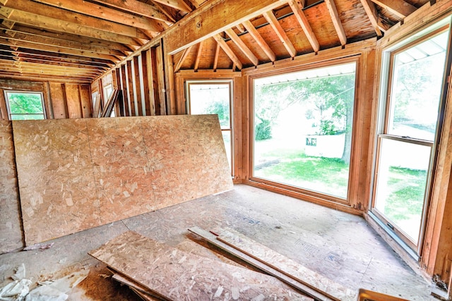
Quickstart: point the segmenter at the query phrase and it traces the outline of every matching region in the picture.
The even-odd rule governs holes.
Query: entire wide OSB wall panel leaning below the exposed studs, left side
[[[218,117],[13,121],[26,245],[232,189]]]

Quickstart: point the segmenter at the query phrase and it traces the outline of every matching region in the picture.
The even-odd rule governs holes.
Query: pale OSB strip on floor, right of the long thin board
[[[223,231],[217,239],[258,259],[264,264],[268,264],[268,266],[273,267],[273,269],[277,269],[281,273],[309,285],[309,287],[331,297],[333,300],[354,301],[357,298],[357,292],[354,290],[331,281],[331,279],[308,269],[306,266],[302,266],[302,264],[285,257],[283,254],[279,254],[269,247],[266,247],[255,240],[251,240],[251,238],[246,237],[242,233],[227,229],[226,231]]]

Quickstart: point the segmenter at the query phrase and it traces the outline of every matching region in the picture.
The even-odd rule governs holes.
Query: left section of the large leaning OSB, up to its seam
[[[27,245],[100,225],[83,119],[13,121]]]

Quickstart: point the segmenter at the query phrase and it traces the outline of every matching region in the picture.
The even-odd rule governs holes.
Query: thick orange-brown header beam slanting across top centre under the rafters
[[[285,3],[287,1],[282,0],[213,0],[186,16],[177,25],[169,27],[165,38],[166,50],[168,54],[176,54]]]

